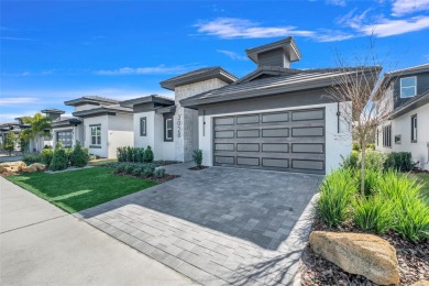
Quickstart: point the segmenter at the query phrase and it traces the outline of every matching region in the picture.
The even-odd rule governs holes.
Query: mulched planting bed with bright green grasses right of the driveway
[[[429,176],[425,173],[406,173],[413,166],[404,164],[408,162],[404,158],[409,156],[394,156],[403,163],[392,164],[385,155],[367,152],[364,186],[361,186],[361,158],[353,158],[353,155],[345,158],[342,167],[329,174],[320,185],[312,231],[331,233],[331,238],[336,237],[332,233],[343,232],[340,237],[348,237],[351,244],[362,243],[361,238],[369,237],[354,235],[360,239],[353,241],[353,234],[346,233],[366,233],[384,239],[383,243],[393,246],[389,245],[393,255],[396,250],[398,262],[396,265],[396,258],[392,257],[396,266],[392,264],[386,271],[395,273],[392,277],[398,282],[400,279],[400,285],[411,285],[420,279],[429,279]],[[320,232],[314,233],[318,235]],[[375,242],[370,242],[371,239],[367,241],[365,255],[382,255]],[[372,260],[362,265],[345,263],[344,258],[351,254],[348,251],[353,248],[351,244],[336,249],[330,241],[323,245],[333,249],[327,246],[323,252],[318,243],[312,241],[304,251],[300,266],[302,285],[376,285],[367,278],[372,274],[365,271],[373,268]],[[328,249],[330,252],[327,252]],[[331,255],[332,251],[334,255]],[[330,261],[350,273],[366,277],[350,274]],[[373,276],[373,279],[376,278]]]

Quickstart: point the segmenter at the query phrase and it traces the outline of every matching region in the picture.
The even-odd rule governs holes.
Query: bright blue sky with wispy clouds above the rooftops
[[[369,35],[386,69],[429,62],[429,0],[1,1],[0,122],[81,96],[173,96],[160,81],[206,66],[241,77],[244,50],[295,37],[295,68],[353,64]]]

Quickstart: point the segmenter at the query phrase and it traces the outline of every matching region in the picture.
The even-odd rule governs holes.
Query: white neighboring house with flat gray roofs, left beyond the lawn
[[[74,118],[53,128],[59,139],[79,141],[90,154],[117,157],[117,147],[133,145],[133,111],[103,97],[81,97],[64,102],[75,107]]]

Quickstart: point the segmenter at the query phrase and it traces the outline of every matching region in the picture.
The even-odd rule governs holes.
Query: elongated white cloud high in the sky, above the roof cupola
[[[260,38],[278,36],[314,36],[315,32],[297,30],[296,26],[261,26],[260,23],[245,19],[218,18],[199,22],[195,26],[199,33],[221,38]]]

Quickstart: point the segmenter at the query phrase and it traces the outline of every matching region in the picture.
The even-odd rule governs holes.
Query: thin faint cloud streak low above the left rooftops
[[[196,66],[154,66],[154,67],[121,67],[112,70],[96,70],[94,74],[100,76],[117,76],[117,75],[176,75],[187,73]]]

